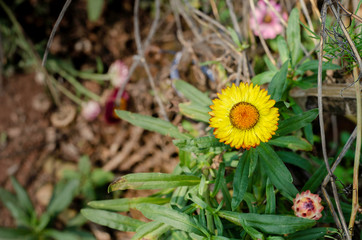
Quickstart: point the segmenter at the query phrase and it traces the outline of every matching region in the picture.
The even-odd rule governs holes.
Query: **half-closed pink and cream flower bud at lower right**
[[[318,220],[322,217],[323,206],[320,204],[321,198],[309,190],[297,194],[293,199],[294,214],[297,217]]]

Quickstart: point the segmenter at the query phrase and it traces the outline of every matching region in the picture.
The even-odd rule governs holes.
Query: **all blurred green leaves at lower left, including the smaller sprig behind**
[[[93,240],[88,231],[81,230],[86,219],[81,214],[64,223],[64,228],[55,227],[57,216],[65,211],[76,196],[83,197],[84,201],[93,200],[96,188],[104,186],[114,178],[112,173],[101,169],[91,171],[88,157],[80,159],[78,171],[67,171],[64,179],[54,187],[51,200],[41,216],[37,216],[36,210],[28,193],[11,177],[15,195],[0,188],[0,201],[10,210],[16,221],[16,228],[0,228],[0,239],[69,239],[69,240]]]

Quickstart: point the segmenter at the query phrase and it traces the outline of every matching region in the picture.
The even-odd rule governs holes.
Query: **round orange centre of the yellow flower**
[[[239,102],[231,108],[229,118],[234,127],[248,130],[258,122],[259,111],[250,103]]]

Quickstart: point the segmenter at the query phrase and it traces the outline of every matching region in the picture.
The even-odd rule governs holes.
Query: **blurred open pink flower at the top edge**
[[[270,1],[270,4],[275,8],[276,11],[281,13],[281,6],[274,0]],[[288,16],[283,12],[282,17],[284,20],[288,19]],[[256,22],[255,22],[256,19]],[[255,8],[255,16],[250,16],[250,27],[256,36],[260,34],[264,39],[274,39],[278,34],[283,32],[282,23],[279,21],[278,16],[268,8],[263,0],[259,0],[258,5]]]

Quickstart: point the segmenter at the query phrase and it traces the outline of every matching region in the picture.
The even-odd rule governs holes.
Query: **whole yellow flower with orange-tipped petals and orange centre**
[[[278,129],[278,108],[267,91],[241,83],[223,89],[209,112],[215,137],[231,147],[256,147],[267,142]]]

